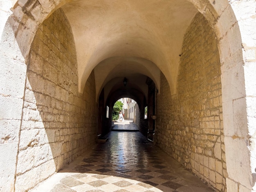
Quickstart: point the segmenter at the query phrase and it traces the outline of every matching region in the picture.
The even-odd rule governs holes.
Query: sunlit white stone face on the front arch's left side
[[[0,10],[1,12],[2,10]],[[1,17],[1,15],[0,15]],[[4,17],[1,17],[4,19]],[[7,22],[0,41],[0,191],[14,190],[24,85],[25,59]]]

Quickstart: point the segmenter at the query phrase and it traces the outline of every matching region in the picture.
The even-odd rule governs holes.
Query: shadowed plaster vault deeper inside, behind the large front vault
[[[157,83],[160,80],[160,72],[158,67],[144,58],[134,57],[112,57],[103,60],[99,65],[94,68],[96,95],[105,87],[105,98],[114,87],[124,87],[124,77],[127,78],[128,85],[137,85],[140,87],[141,92],[147,95],[146,76]],[[139,75],[140,74],[140,75]]]

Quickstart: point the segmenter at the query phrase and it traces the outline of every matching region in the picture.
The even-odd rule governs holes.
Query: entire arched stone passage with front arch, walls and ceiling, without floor
[[[90,149],[105,107],[126,95],[140,109],[150,104],[156,120],[146,128],[155,122],[154,142],[184,167],[218,191],[252,190],[254,8],[6,0],[0,151],[10,153],[0,160],[1,190],[34,188]]]

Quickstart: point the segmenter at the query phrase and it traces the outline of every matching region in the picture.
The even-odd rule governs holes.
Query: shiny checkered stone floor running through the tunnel
[[[33,191],[213,192],[140,132],[108,137]]]

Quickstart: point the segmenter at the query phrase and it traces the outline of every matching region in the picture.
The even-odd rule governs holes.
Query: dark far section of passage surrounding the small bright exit
[[[131,71],[129,71],[129,73]],[[124,80],[126,81],[125,83]],[[104,135],[111,130],[112,109],[115,102],[122,97],[136,100],[138,106],[136,118],[138,128],[145,136],[148,135],[148,132],[152,132],[151,134],[153,134],[155,124],[152,118],[144,118],[144,111],[145,107],[147,107],[149,116],[155,115],[156,91],[153,80],[142,74],[130,75],[127,76],[127,78],[113,78],[110,80],[102,89],[99,97],[98,134]],[[106,115],[107,107],[109,107],[109,117]]]

